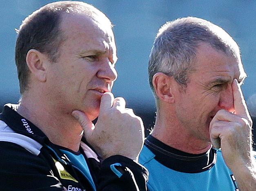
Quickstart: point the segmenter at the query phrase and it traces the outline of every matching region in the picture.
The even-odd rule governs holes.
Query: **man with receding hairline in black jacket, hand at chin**
[[[0,114],[0,190],[146,190],[142,120],[111,93],[117,56],[106,15],[54,2],[17,32],[22,98]]]

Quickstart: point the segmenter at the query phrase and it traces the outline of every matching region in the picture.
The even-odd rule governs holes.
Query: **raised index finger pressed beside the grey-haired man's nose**
[[[236,79],[234,79],[232,83],[232,89],[233,89],[234,107],[235,107],[236,115],[247,117],[248,109],[245,104],[245,99],[243,97],[241,87]]]

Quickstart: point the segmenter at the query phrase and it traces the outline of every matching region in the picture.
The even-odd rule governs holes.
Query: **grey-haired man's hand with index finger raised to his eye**
[[[236,79],[232,83],[235,112],[219,110],[210,123],[210,139],[214,148],[221,148],[229,168],[247,163],[252,149],[252,119]]]

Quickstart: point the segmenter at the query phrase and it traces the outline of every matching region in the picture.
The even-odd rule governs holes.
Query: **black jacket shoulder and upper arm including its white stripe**
[[[37,141],[0,124],[0,190],[61,189],[41,148]]]

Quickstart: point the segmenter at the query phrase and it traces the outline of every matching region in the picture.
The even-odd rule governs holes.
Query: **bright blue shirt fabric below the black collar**
[[[183,173],[169,169],[154,159],[146,146],[140,153],[139,162],[149,170],[149,191],[236,191],[232,171],[217,150],[216,164],[199,173]]]

